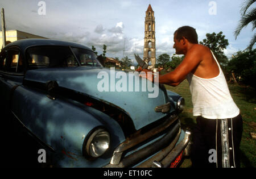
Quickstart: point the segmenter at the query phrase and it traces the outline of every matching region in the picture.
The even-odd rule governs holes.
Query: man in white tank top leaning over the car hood
[[[208,47],[198,44],[192,27],[183,26],[175,31],[174,48],[177,55],[183,54],[185,58],[174,71],[159,76],[158,80],[171,86],[179,85],[185,78],[189,82],[193,115],[197,116],[192,166],[240,167],[242,118],[220,65]]]

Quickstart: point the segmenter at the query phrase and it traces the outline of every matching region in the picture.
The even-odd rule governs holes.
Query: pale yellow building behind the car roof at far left
[[[6,35],[6,44],[16,40],[20,40],[20,39],[47,39],[42,36],[30,34],[27,32],[22,32],[18,30],[5,31],[5,35]],[[0,31],[0,49],[2,49],[2,47],[3,47],[2,31]]]

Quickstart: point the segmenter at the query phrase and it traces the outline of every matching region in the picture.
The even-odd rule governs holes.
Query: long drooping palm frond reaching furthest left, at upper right
[[[237,36],[240,34],[243,27],[246,27],[250,22],[253,23],[253,29],[255,28],[255,20],[256,20],[256,8],[247,11],[246,14],[243,14],[240,21],[238,22],[238,26],[236,31],[234,31],[234,36],[237,39]]]

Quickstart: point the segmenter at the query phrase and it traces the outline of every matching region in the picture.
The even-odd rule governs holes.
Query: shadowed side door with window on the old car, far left
[[[10,112],[15,88],[22,84],[23,60],[18,47],[3,49],[0,54],[0,107],[1,114]]]

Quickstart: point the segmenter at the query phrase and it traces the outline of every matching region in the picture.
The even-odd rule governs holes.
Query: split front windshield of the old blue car
[[[74,47],[69,48],[57,45],[34,46],[27,49],[26,57],[30,69],[78,66],[77,60],[83,66],[101,66],[96,59],[95,53]]]

